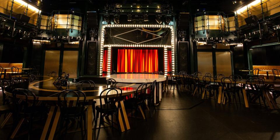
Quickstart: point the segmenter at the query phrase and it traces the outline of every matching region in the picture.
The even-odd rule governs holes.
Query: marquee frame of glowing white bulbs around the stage
[[[105,28],[106,27],[158,27],[158,28],[170,28],[171,31],[171,46],[170,45],[139,45],[139,44],[131,44],[131,45],[119,45],[119,44],[108,44],[104,45],[104,36],[105,36]],[[100,66],[99,66],[99,75],[103,74],[103,50],[104,47],[108,47],[108,55],[107,55],[107,75],[111,74],[111,47],[162,47],[164,48],[164,75],[167,75],[167,66],[168,66],[168,58],[167,58],[167,48],[171,48],[171,67],[172,71],[175,71],[175,56],[174,56],[174,30],[172,25],[140,25],[140,24],[106,24],[102,25],[101,31],[101,43],[100,43]]]

